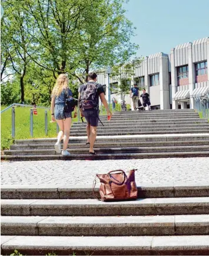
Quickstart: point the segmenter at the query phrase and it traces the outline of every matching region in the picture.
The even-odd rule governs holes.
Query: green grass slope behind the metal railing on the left
[[[1,107],[3,110],[5,107]],[[44,109],[37,109],[38,115],[34,115],[34,137],[57,137],[57,124],[51,123],[51,112],[48,112],[48,135],[45,135]],[[77,122],[78,118],[73,118]],[[15,107],[15,140],[32,138],[29,132],[30,108]],[[8,149],[14,143],[12,138],[12,109],[1,114],[1,150]]]

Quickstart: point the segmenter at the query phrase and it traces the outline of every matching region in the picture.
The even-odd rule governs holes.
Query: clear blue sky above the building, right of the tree
[[[137,56],[170,53],[181,43],[209,37],[209,0],[130,0],[127,18],[137,27]]]

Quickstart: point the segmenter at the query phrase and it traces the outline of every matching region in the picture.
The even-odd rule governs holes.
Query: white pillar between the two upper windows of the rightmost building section
[[[192,96],[193,90],[194,90],[194,64],[193,64],[193,44],[189,43],[188,44],[188,82],[189,86],[188,88],[190,89],[190,108],[194,108],[194,98]]]

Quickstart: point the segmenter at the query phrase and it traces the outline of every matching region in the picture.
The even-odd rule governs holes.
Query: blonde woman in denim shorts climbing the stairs
[[[71,129],[72,112],[64,112],[65,99],[72,97],[72,91],[69,89],[69,79],[67,74],[59,74],[57,82],[52,90],[51,96],[51,116],[52,122],[56,121],[59,125],[59,133],[57,142],[55,143],[55,151],[61,153],[61,140],[63,138],[62,155],[69,156],[68,141],[69,131]],[[74,117],[77,116],[77,109],[74,111]]]

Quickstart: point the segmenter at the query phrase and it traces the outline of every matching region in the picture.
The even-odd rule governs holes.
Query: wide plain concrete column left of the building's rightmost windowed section
[[[160,109],[170,109],[168,85],[168,56],[160,55]]]

